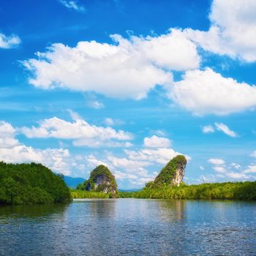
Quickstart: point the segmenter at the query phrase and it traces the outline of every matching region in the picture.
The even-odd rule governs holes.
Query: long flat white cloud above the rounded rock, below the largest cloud
[[[75,116],[77,117],[77,116]],[[69,122],[60,118],[48,118],[39,123],[39,127],[22,127],[19,132],[27,138],[58,138],[73,140],[75,146],[132,146],[126,140],[132,140],[129,132],[111,127],[97,127],[83,119],[76,118]]]

